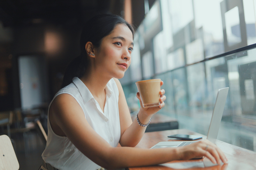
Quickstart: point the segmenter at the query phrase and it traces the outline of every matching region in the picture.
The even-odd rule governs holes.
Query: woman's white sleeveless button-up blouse
[[[109,142],[112,147],[117,147],[121,131],[118,111],[119,92],[114,79],[111,79],[106,85],[104,113],[89,89],[77,77],[73,78],[71,84],[59,90],[53,100],[60,94],[73,96],[82,107],[86,120],[95,132]],[[68,137],[58,136],[53,132],[49,122],[49,109],[47,126],[47,144],[42,154],[46,163],[59,170],[96,170],[100,168],[99,165],[82,154]]]

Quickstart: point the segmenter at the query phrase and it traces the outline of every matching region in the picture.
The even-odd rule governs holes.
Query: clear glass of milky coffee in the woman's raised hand
[[[151,79],[136,82],[143,107],[160,105],[161,79]]]

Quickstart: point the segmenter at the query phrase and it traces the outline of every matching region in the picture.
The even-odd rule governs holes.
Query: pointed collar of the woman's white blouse
[[[77,87],[77,89],[79,90],[85,104],[89,100],[94,99],[90,90],[86,87],[86,85],[78,77],[74,77],[72,81],[75,84],[75,86]],[[112,93],[113,93],[111,88],[109,87],[109,83],[110,82],[108,82],[108,84],[106,85],[106,101],[112,96]]]

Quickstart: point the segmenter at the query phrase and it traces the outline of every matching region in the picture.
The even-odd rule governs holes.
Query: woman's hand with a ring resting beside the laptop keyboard
[[[192,143],[188,146],[177,147],[177,154],[181,160],[188,160],[193,158],[207,157],[213,164],[227,163],[227,158],[224,153],[209,140],[201,140]]]

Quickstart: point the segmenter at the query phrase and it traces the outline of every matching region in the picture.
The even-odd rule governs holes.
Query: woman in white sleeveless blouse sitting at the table
[[[133,27],[116,15],[100,15],[87,22],[80,41],[82,53],[68,66],[63,88],[49,105],[42,169],[110,170],[202,156],[226,163],[222,151],[208,140],[180,148],[133,148],[145,132],[142,125],[166,99],[162,89],[160,105],[143,108],[137,93],[140,124],[132,122],[118,79],[131,63],[133,37]]]

